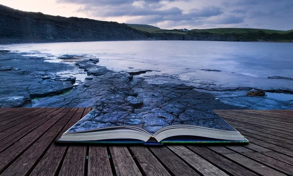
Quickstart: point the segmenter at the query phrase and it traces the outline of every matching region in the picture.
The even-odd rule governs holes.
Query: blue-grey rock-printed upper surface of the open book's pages
[[[177,118],[169,113],[162,112],[115,116],[113,114],[101,115],[101,112],[98,109],[94,109],[77,122],[72,128],[70,128],[67,133],[131,125],[142,127],[153,135],[160,128],[175,124],[188,124],[213,129],[235,131],[229,123],[217,115],[201,116],[198,113],[190,112],[189,116],[179,116],[179,118]]]

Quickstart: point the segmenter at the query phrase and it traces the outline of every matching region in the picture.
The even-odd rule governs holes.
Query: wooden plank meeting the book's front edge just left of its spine
[[[143,170],[144,176],[171,176],[145,146],[129,147]]]

